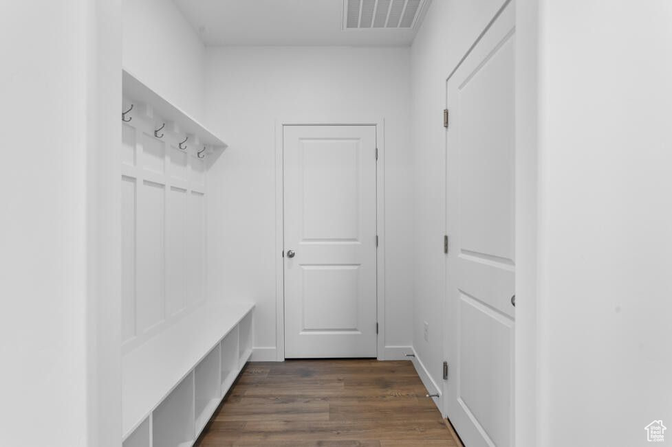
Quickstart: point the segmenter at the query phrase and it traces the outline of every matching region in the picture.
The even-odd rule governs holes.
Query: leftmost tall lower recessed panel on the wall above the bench
[[[121,260],[122,341],[125,342],[136,335],[136,179],[127,176],[121,180]]]

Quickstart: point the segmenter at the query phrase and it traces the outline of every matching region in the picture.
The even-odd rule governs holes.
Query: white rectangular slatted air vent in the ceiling
[[[343,28],[411,29],[426,0],[343,0]]]

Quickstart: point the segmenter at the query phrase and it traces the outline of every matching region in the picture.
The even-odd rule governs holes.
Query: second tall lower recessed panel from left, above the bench
[[[164,318],[165,186],[143,181],[138,207],[137,328],[142,333]]]

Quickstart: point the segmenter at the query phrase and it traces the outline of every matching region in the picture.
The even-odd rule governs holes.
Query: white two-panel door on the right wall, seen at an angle
[[[446,414],[464,444],[513,445],[514,5],[446,83]]]

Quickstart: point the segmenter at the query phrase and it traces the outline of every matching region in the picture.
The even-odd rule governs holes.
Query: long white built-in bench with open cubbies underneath
[[[124,447],[193,444],[249,359],[253,308],[208,301],[124,355]]]

